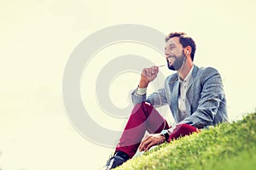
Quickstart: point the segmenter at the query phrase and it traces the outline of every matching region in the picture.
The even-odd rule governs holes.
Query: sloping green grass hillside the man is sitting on
[[[233,170],[256,167],[256,113],[150,150],[116,169]]]

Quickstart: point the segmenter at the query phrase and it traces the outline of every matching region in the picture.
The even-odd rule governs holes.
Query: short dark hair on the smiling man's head
[[[189,37],[184,32],[172,32],[168,36],[166,36],[166,42],[172,37],[179,37],[179,42],[182,44],[183,48],[186,48],[187,46],[190,46],[192,48],[191,59],[193,61],[195,56],[195,42],[192,37]]]

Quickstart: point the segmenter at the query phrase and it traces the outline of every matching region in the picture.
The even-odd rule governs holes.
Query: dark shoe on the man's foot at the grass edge
[[[115,167],[119,167],[125,161],[129,159],[129,156],[122,151],[117,151],[114,156],[112,156],[106,165],[106,170],[113,169]]]

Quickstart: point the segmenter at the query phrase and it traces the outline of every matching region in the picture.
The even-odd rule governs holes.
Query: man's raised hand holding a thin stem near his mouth
[[[154,78],[157,77],[158,66],[153,66],[150,68],[144,68],[141,74],[141,80],[139,82],[139,88],[147,88],[148,83],[154,81]]]

